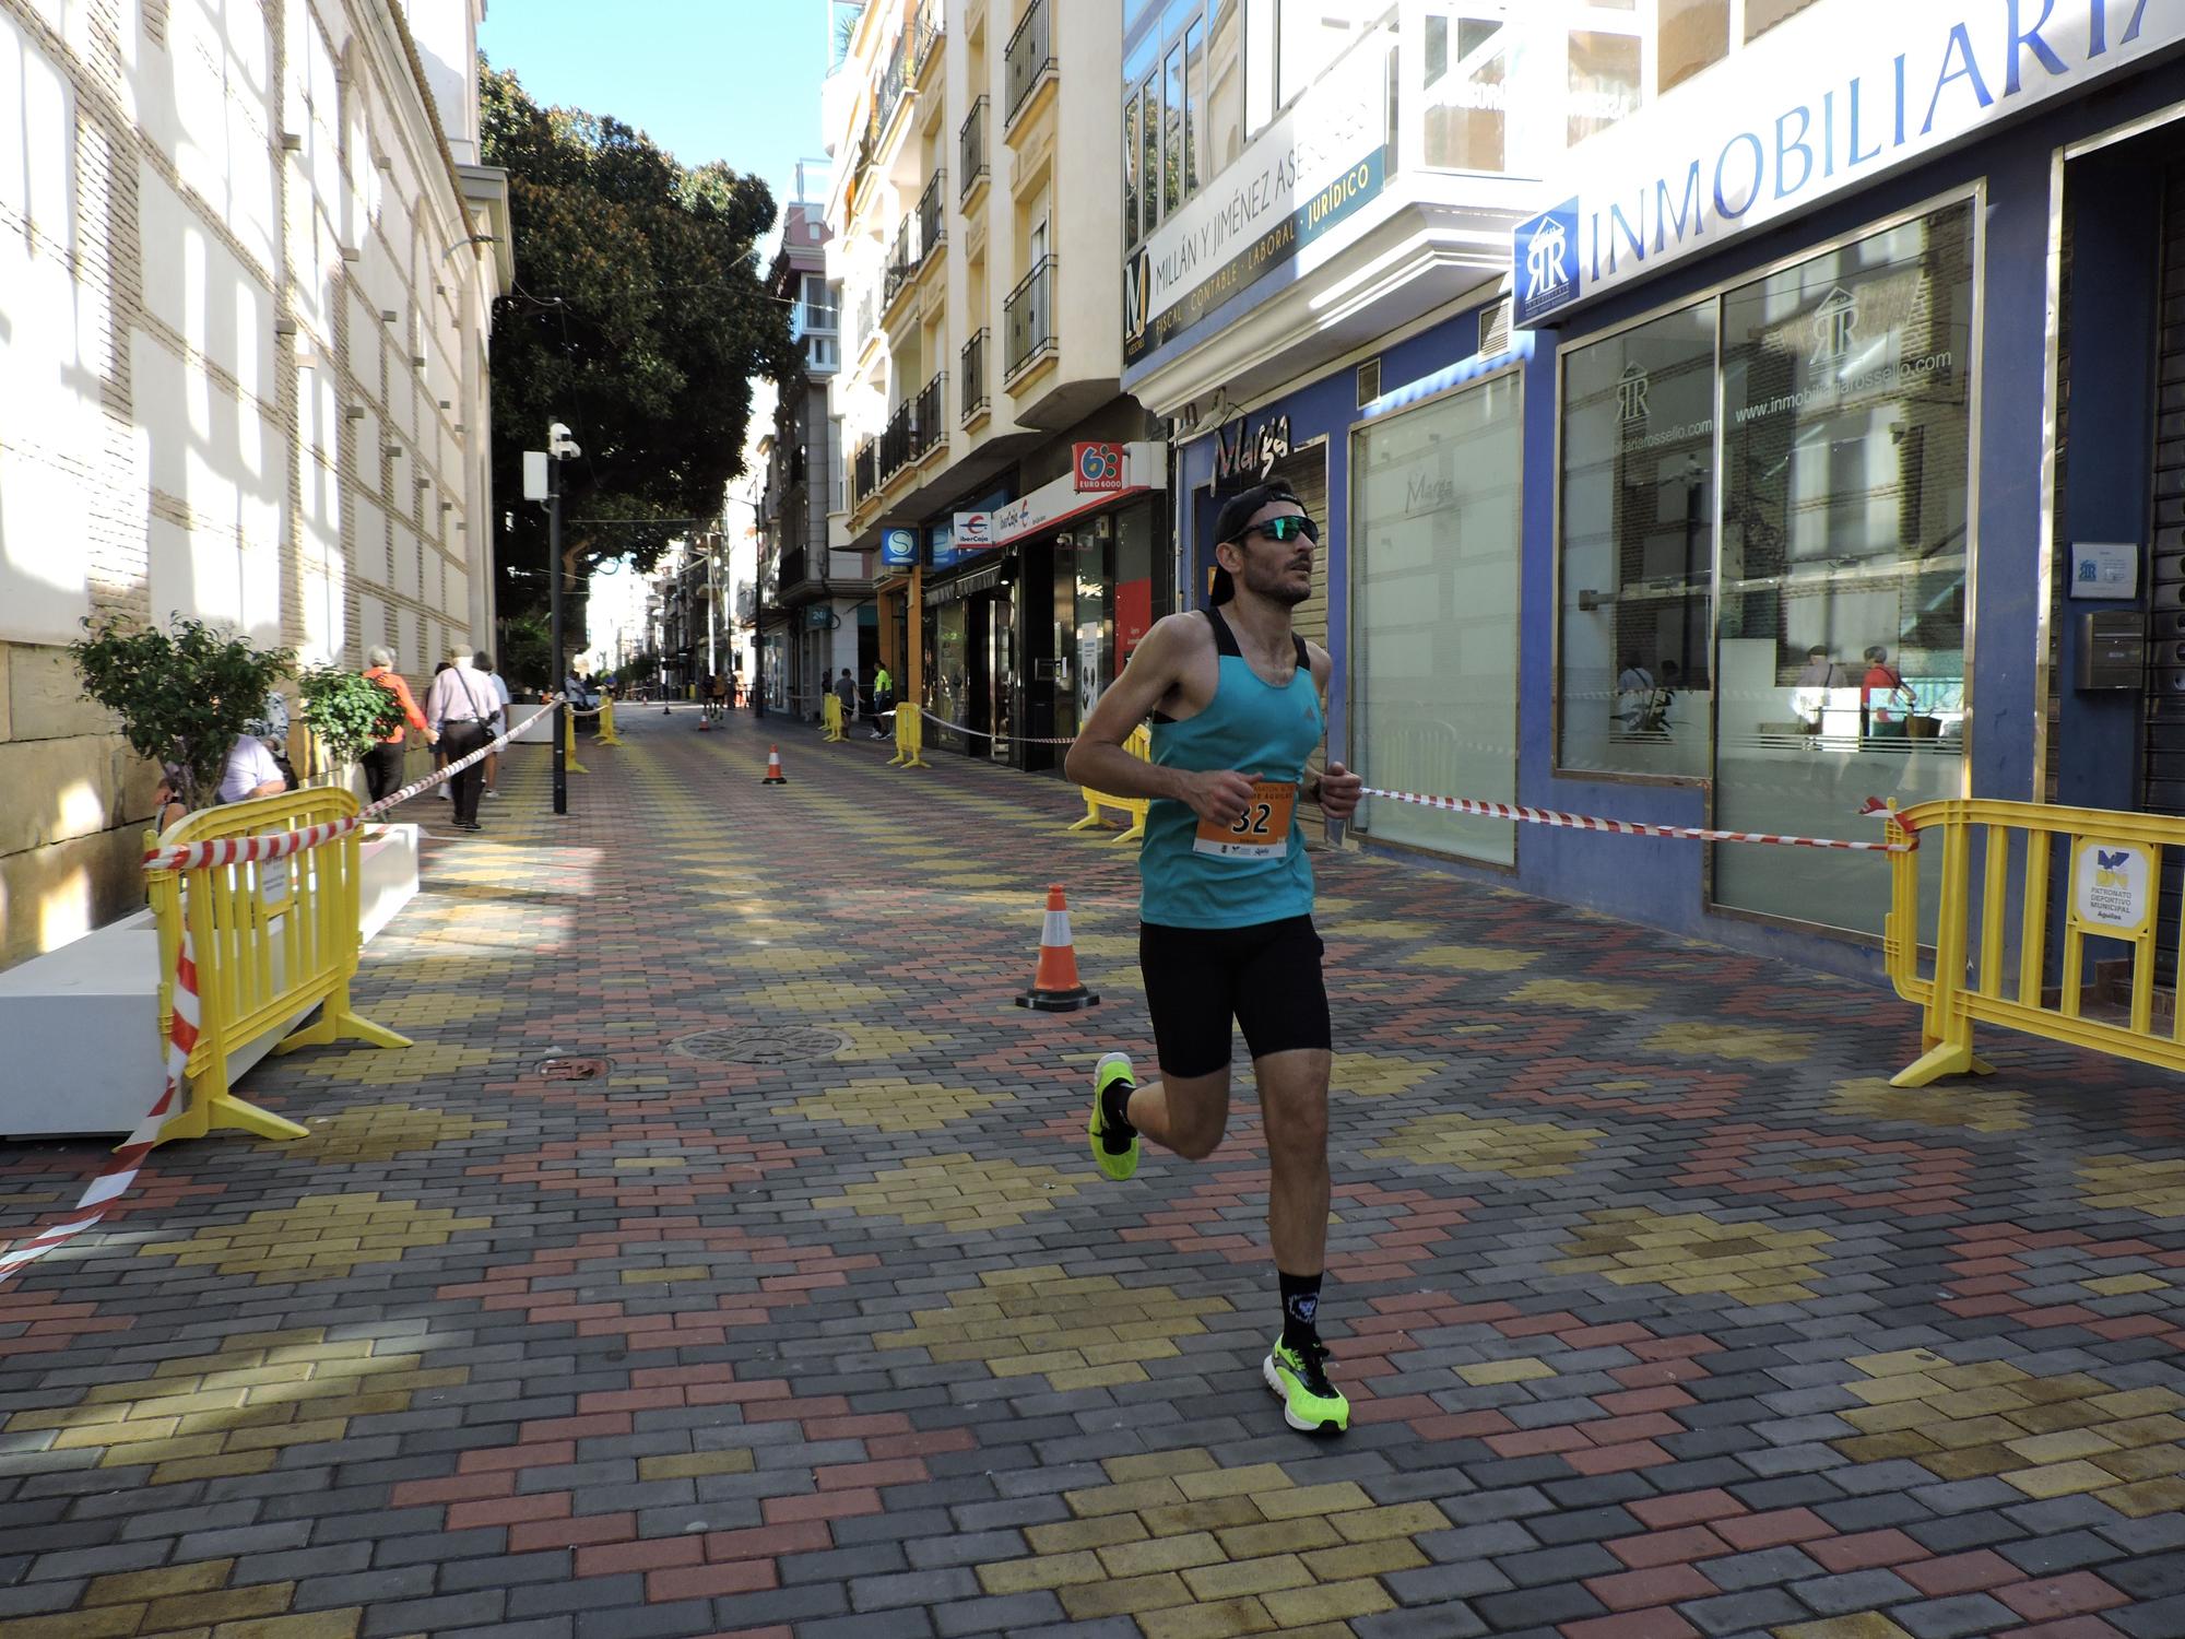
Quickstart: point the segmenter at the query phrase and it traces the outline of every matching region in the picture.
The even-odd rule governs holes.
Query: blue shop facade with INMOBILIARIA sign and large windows
[[[1818,0],[1571,146],[1499,278],[1191,406],[1186,599],[1224,483],[1309,494],[1331,754],[1370,787],[1853,839],[1873,800],[2185,813],[2178,46],[2122,0]],[[1274,269],[1165,356],[1370,258]],[[1875,854],[1381,798],[1353,835],[1879,972]]]

